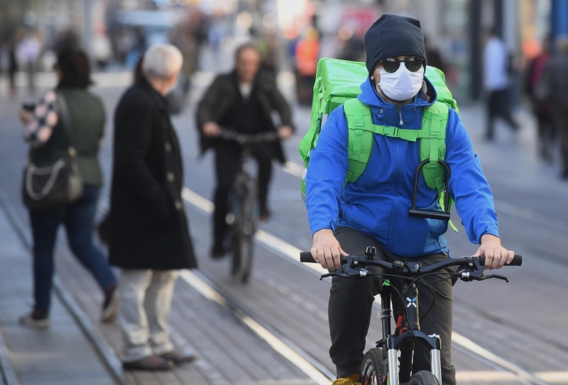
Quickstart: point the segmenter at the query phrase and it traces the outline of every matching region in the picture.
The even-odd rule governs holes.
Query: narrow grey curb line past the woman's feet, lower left
[[[16,220],[16,214],[10,211],[9,206],[6,204],[6,201],[8,201],[6,194],[4,193],[4,191],[0,190],[0,209],[4,211],[6,218],[8,219],[9,223],[12,225],[13,230],[18,235],[18,238],[20,238],[24,247],[26,247],[26,249],[31,252],[32,242],[29,239],[26,232],[21,227],[21,223],[18,223],[18,221]],[[71,313],[73,318],[75,318],[82,332],[89,339],[89,342],[92,343],[92,345],[95,348],[95,351],[97,352],[97,355],[99,355],[99,357],[102,358],[104,366],[106,366],[107,369],[109,369],[109,372],[111,373],[111,376],[113,377],[116,384],[132,385],[130,381],[124,379],[124,372],[122,370],[121,361],[116,357],[111,347],[109,347],[109,345],[104,340],[102,335],[100,335],[100,333],[97,331],[97,328],[95,328],[93,323],[89,320],[87,315],[82,311],[82,309],[77,304],[77,302],[75,302],[75,299],[72,298],[69,291],[65,289],[65,286],[61,283],[60,279],[55,274],[53,276],[53,289],[55,289],[55,293],[59,296],[60,300],[65,305],[67,310]],[[3,340],[1,340],[1,335],[0,335],[0,359],[2,357],[2,351],[1,351],[1,348],[3,346],[2,342]],[[0,361],[0,364],[2,364],[3,366],[4,362]],[[19,385],[19,382],[13,382],[13,383],[8,382],[7,385]]]

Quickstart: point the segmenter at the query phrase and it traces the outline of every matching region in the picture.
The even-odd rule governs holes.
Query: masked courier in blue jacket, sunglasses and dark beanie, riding
[[[374,124],[420,129],[423,110],[436,100],[435,89],[424,77],[423,42],[420,21],[413,18],[383,15],[367,30],[364,43],[369,77],[361,84],[359,101],[371,108]],[[410,63],[417,60],[422,65]],[[452,171],[449,191],[469,240],[479,244],[476,255],[486,256],[486,268],[500,268],[513,260],[513,252],[501,246],[491,189],[466,128],[453,109],[449,111],[445,142],[445,160]],[[341,106],[325,123],[307,169],[306,206],[314,259],[325,269],[336,269],[340,255],[364,255],[368,246],[376,247],[378,257],[389,262],[433,264],[447,259],[449,249],[443,234],[448,223],[408,215],[420,162],[419,141],[374,134],[364,173],[345,186],[347,143],[348,128]],[[439,208],[437,191],[427,188],[422,177],[417,203],[419,207]],[[442,383],[453,385],[452,282],[439,280],[424,278],[432,283],[435,296],[424,286],[419,289],[421,317],[433,305],[420,325],[425,333],[440,335]],[[336,385],[359,384],[373,298],[380,289],[381,281],[376,278],[332,279],[329,354],[337,369]],[[420,352],[415,354],[413,372],[429,369],[427,358]]]

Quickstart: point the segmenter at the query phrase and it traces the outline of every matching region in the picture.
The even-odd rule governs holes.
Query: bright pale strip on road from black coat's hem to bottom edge
[[[203,279],[197,276],[191,270],[182,270],[180,273],[180,277],[187,282],[190,286],[192,286],[195,290],[197,290],[202,296],[209,299],[210,301],[214,301],[221,306],[226,306],[227,301],[215,291],[209,284],[207,284]],[[316,369],[310,362],[307,362],[301,355],[297,354],[294,350],[292,350],[288,345],[275,337],[272,333],[268,330],[263,328],[262,325],[257,323],[255,320],[246,316],[246,314],[241,313],[240,311],[234,311],[235,315],[241,319],[241,321],[255,333],[258,337],[264,340],[268,345],[270,345],[276,352],[280,355],[288,359],[292,364],[295,365],[298,369],[304,372],[310,379],[315,381],[318,385],[329,385],[329,381],[334,381],[332,378],[328,378],[324,376],[320,370]]]

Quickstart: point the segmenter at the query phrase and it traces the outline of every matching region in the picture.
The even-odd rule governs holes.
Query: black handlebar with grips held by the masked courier
[[[430,265],[425,266],[425,267],[420,267],[419,271],[413,272],[413,271],[410,270],[410,268],[408,267],[407,264],[395,266],[391,262],[386,262],[386,261],[383,261],[383,260],[377,260],[377,259],[372,259],[372,258],[367,258],[367,257],[356,257],[356,256],[351,256],[351,255],[342,255],[341,263],[342,264],[347,263],[349,257],[352,258],[353,264],[356,264],[356,265],[359,265],[359,266],[382,267],[383,269],[385,269],[388,272],[398,274],[398,275],[404,275],[404,276],[424,275],[424,274],[437,272],[437,271],[442,270],[445,267],[449,267],[449,266],[467,265],[471,261],[470,258],[477,258],[479,260],[479,264],[481,265],[481,267],[483,267],[484,264],[485,264],[485,256],[484,255],[481,255],[480,257],[461,257],[461,258],[456,258],[456,259],[452,259],[452,260],[445,260],[445,261],[438,262],[438,263],[435,263],[435,264],[430,264]],[[312,257],[311,252],[300,252],[300,262],[317,263],[317,262],[315,262],[314,258]],[[513,260],[510,262],[510,264],[506,264],[505,266],[520,266],[522,263],[523,263],[523,257],[521,257],[520,255],[515,255],[515,257],[513,257]]]

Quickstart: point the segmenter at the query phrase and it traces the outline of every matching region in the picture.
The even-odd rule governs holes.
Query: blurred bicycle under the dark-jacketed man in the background
[[[253,260],[253,237],[258,224],[256,208],[256,177],[252,175],[251,145],[254,143],[272,142],[278,138],[277,133],[258,133],[244,135],[234,130],[223,130],[219,138],[230,140],[241,145],[240,170],[229,193],[229,213],[226,223],[229,230],[229,249],[233,255],[231,276],[246,283],[249,281]]]

